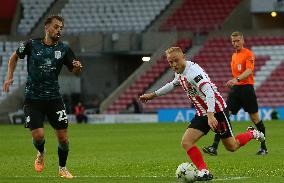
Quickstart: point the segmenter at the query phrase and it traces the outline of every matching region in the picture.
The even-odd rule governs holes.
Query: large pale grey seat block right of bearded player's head
[[[70,0],[62,9],[65,32],[143,31],[170,0]]]

